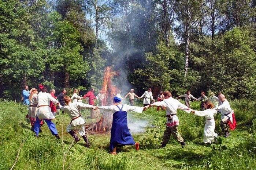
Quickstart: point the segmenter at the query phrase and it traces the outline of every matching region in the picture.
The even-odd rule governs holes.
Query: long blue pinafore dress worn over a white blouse
[[[119,108],[120,111],[117,111],[113,114],[110,137],[110,151],[112,151],[116,146],[135,144],[127,126],[127,112],[122,111],[122,108]]]

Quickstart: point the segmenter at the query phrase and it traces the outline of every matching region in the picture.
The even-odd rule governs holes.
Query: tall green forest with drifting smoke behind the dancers
[[[255,0],[1,0],[0,98],[42,83],[254,98]]]

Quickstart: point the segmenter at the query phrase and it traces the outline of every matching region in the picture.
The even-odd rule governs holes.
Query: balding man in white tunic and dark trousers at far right
[[[231,109],[229,102],[227,101],[226,97],[223,94],[220,94],[219,100],[222,102],[217,108],[218,111],[221,113],[220,128],[224,133],[224,137],[227,138],[229,136],[229,129],[227,127],[227,123],[229,121],[233,123],[233,110]]]

